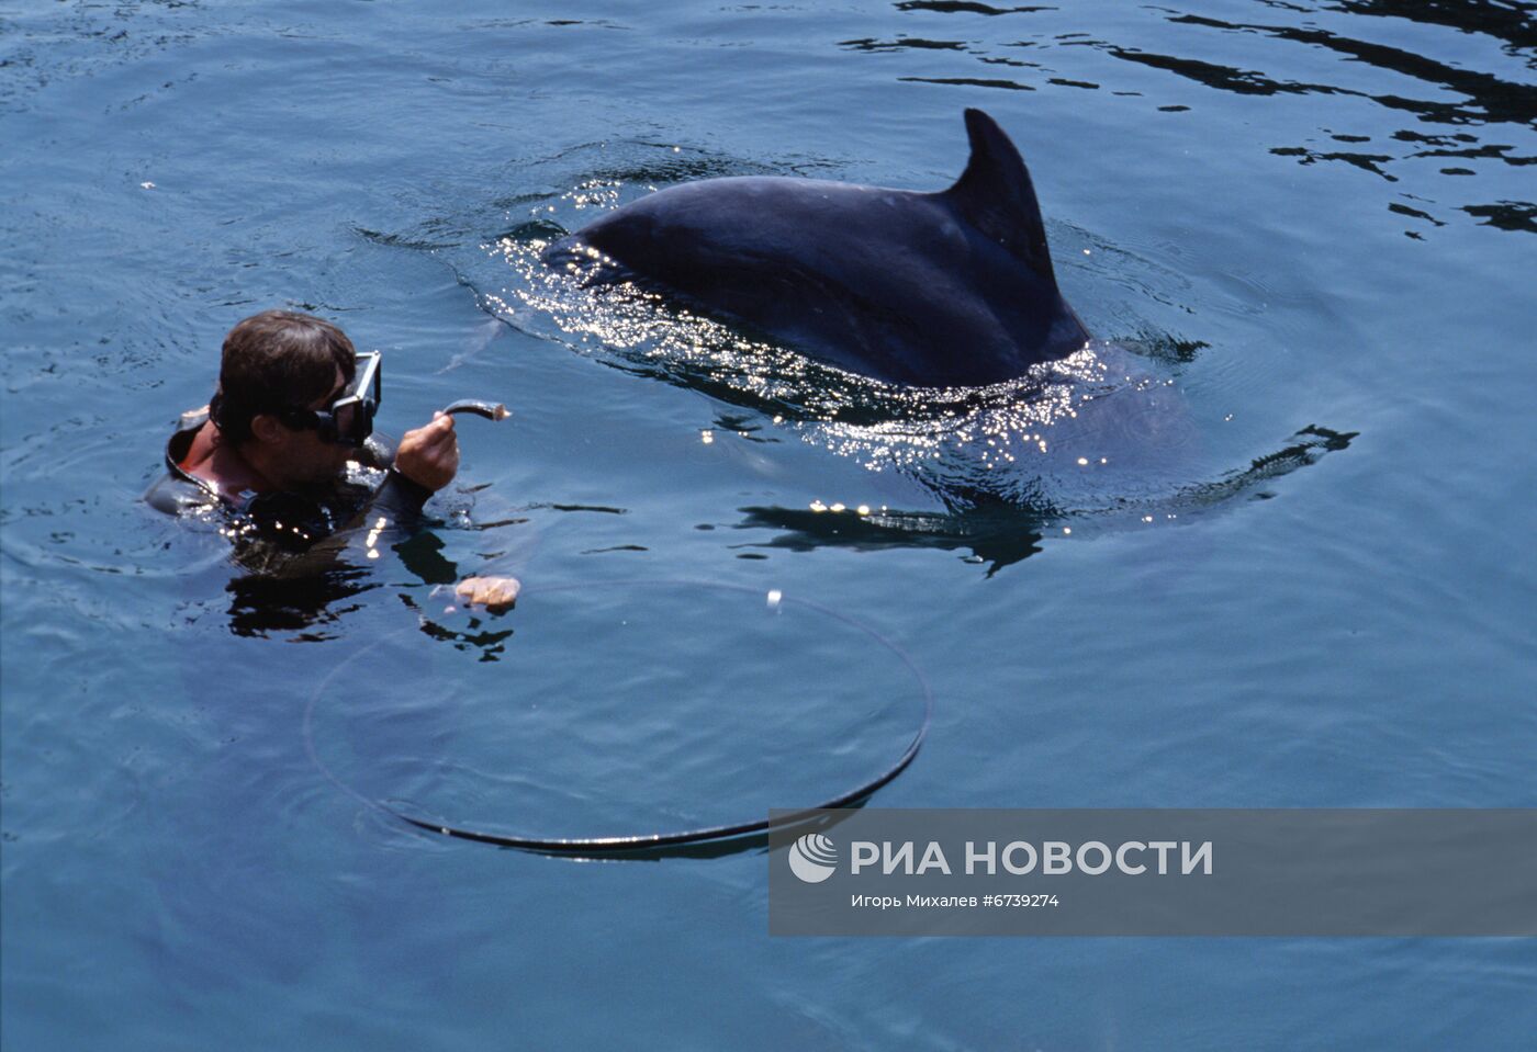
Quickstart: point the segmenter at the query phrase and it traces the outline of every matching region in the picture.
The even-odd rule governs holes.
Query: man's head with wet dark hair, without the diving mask
[[[275,482],[335,476],[347,448],[327,444],[298,421],[324,409],[352,381],[357,352],[329,321],[292,310],[264,310],[224,336],[218,393],[211,413],[220,439],[263,461]]]

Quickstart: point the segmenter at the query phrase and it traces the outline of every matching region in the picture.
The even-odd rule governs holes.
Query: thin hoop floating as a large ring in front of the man
[[[575,588],[586,590],[586,588],[612,588],[612,587],[627,587],[627,585],[629,587],[689,585],[695,588],[741,591],[752,596],[762,594],[755,588],[747,588],[745,585],[729,585],[729,584],[718,584],[707,581],[603,581],[603,582],[587,582],[579,585],[576,584],[546,585],[533,591],[547,593],[547,591],[570,591]],[[529,591],[524,591],[523,597],[527,597],[529,594],[530,594]],[[727,825],[701,826],[698,829],[678,829],[672,832],[638,832],[638,834],[618,834],[610,837],[532,837],[518,834],[486,832],[481,829],[470,829],[467,826],[429,822],[426,819],[412,817],[383,800],[375,800],[369,796],[364,796],[363,792],[350,786],[347,782],[344,782],[340,776],[337,776],[329,766],[326,766],[324,760],[320,759],[320,753],[315,749],[315,733],[314,733],[315,706],[320,703],[321,696],[326,693],[330,683],[338,676],[341,676],[343,671],[346,671],[358,659],[372,653],[378,647],[387,643],[393,636],[386,636],[384,639],[380,639],[378,642],[364,647],[358,653],[340,662],[335,668],[332,668],[326,674],[324,679],[320,680],[320,683],[315,686],[315,693],[310,694],[309,703],[304,706],[304,725],[303,725],[304,749],[309,753],[310,763],[314,763],[315,768],[321,774],[324,774],[332,785],[335,785],[338,789],[341,789],[352,799],[358,800],[360,803],[372,808],[373,811],[378,811],[380,814],[389,815],[390,819],[404,822],[406,825],[413,826],[417,829],[423,829],[426,832],[435,832],[444,837],[455,837],[458,840],[473,840],[476,843],[489,843],[498,848],[520,848],[524,851],[539,851],[546,854],[573,854],[573,855],[609,854],[609,852],[624,852],[624,851],[644,851],[649,848],[678,848],[684,845],[707,843],[712,840],[730,840],[735,837],[745,837],[756,832],[767,832],[768,829],[799,825],[801,822],[805,822],[807,819],[813,817],[816,811],[845,808],[850,803],[864,800],[865,797],[871,796],[873,792],[890,783],[893,779],[896,779],[898,774],[905,771],[907,765],[911,763],[913,757],[918,756],[918,749],[922,748],[924,739],[928,736],[928,725],[933,720],[933,713],[934,713],[934,696],[933,691],[930,691],[928,688],[928,680],[925,680],[924,674],[918,671],[918,665],[913,663],[913,659],[908,657],[896,643],[893,643],[890,639],[878,633],[870,625],[865,625],[861,620],[856,620],[847,614],[841,614],[835,610],[830,610],[808,599],[788,599],[785,596],[779,596],[776,602],[792,604],[796,607],[813,610],[819,614],[832,617],[833,620],[848,625],[850,628],[855,628],[868,639],[875,640],[876,643],[888,650],[891,654],[895,654],[896,659],[907,668],[907,671],[913,676],[913,680],[918,683],[918,688],[924,700],[924,714],[918,726],[918,733],[913,734],[913,739],[907,743],[907,748],[902,749],[902,754],[896,759],[896,763],[885,768],[873,779],[861,782],[847,792],[841,792],[839,796],[835,796],[830,800],[805,806],[799,811],[792,811],[788,814],[779,815],[778,819],[753,819],[750,822],[732,822]]]

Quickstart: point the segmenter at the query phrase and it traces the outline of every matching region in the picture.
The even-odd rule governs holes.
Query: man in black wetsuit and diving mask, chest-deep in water
[[[246,318],[224,338],[218,390],[183,416],[166,444],[166,475],[144,499],[172,514],[218,508],[247,548],[281,553],[284,574],[338,556],[378,557],[453,481],[453,418],[406,432],[398,447],[373,435],[380,356],[358,355],[329,321],[289,310]],[[377,488],[355,478],[383,471]],[[513,577],[469,577],[469,604],[507,608]]]

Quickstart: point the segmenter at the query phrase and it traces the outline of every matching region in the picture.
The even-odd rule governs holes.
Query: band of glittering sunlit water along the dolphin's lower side
[[[621,189],[593,181],[566,200],[609,207]],[[549,235],[507,235],[486,244],[513,280],[484,292],[483,304],[503,318],[553,326],[552,335],[584,355],[613,355],[621,366],[644,361],[672,381],[719,385],[749,405],[792,405],[792,413],[772,412],[775,425],[787,425],[801,441],[873,473],[976,471],[1008,479],[1050,468],[1045,458],[1056,456],[1067,458],[1064,465],[1076,459],[1088,467],[1093,461],[1077,450],[1088,441],[1102,447],[1093,428],[1096,421],[1113,418],[1111,396],[1154,384],[1127,369],[1124,352],[1107,355],[1110,346],[1094,342],[1008,382],[954,389],[887,384],[669,307],[658,293],[630,283],[610,283],[606,272],[616,264],[595,249],[579,247],[549,267],[541,253],[550,244]],[[1102,409],[1105,402],[1110,409]],[[713,433],[701,433],[701,441],[710,444]]]

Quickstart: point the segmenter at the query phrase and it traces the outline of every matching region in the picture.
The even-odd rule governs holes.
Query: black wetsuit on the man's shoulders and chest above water
[[[377,488],[340,481],[312,491],[247,490],[229,501],[212,482],[181,468],[206,421],[206,412],[183,415],[166,442],[166,473],[149,487],[144,501],[168,514],[214,511],[224,516],[237,557],[251,568],[263,564],[275,570],[275,564],[292,564],[301,553],[304,564],[341,554],[375,557],[381,541],[398,541],[417,528],[421,505],[432,496],[430,490],[397,471],[393,447],[372,436],[355,459],[363,468],[384,473]]]

